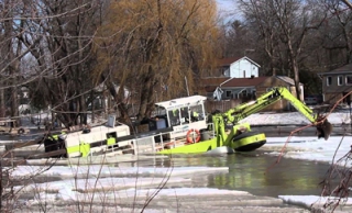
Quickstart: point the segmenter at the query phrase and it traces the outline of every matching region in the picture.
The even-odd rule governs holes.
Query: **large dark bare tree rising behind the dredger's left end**
[[[29,8],[35,19],[25,22],[18,38],[36,60],[32,74],[57,119],[69,127],[87,123],[86,97],[91,89],[92,37],[99,23],[100,1],[33,1]],[[30,75],[31,76],[31,75]],[[26,78],[30,78],[29,76]],[[38,88],[36,88],[38,89]],[[80,121],[78,121],[80,117]]]

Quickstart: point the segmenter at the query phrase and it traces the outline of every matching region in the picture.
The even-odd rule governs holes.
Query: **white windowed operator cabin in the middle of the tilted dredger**
[[[184,137],[186,132],[207,128],[205,101],[207,97],[191,96],[155,103],[154,130],[173,127],[170,137]],[[150,130],[153,126],[150,125]]]

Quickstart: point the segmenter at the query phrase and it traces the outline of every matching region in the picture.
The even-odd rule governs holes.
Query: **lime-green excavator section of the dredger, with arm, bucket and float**
[[[272,88],[256,100],[242,103],[224,113],[212,113],[208,119],[208,123],[213,124],[213,128],[210,130],[213,131],[213,137],[201,139],[198,143],[186,146],[163,149],[160,153],[205,153],[221,146],[231,147],[237,152],[255,150],[266,143],[265,134],[252,131],[249,123],[239,124],[239,122],[283,99],[289,101],[298,112],[311,122],[312,126],[316,126],[318,138],[329,138],[332,132],[332,125],[328,122],[327,117],[323,114],[314,112],[305,103],[293,96],[288,89],[277,87]],[[209,132],[209,130],[207,131]]]

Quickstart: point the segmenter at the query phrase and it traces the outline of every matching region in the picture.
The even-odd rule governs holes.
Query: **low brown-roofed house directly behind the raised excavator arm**
[[[209,81],[209,80],[208,80]],[[213,92],[221,91],[221,100],[241,99],[242,102],[255,100],[256,97],[270,91],[273,87],[286,87],[294,96],[296,94],[294,79],[285,76],[252,77],[252,78],[230,78],[220,83]],[[211,87],[213,89],[213,87]],[[304,86],[300,83],[304,98]],[[208,91],[209,92],[209,91]],[[216,96],[213,96],[216,97]],[[294,110],[286,100],[280,100],[265,110]]]

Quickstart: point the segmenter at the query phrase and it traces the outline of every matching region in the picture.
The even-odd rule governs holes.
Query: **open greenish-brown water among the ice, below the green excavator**
[[[319,182],[324,179],[328,164],[285,159],[260,152],[223,156],[174,156],[175,167],[228,167],[228,173],[212,173],[193,178],[193,187],[248,191],[254,195],[320,195]],[[144,166],[147,162],[144,162]],[[170,166],[169,160],[158,159],[158,167]],[[139,165],[141,166],[141,165]],[[143,166],[143,165],[142,165]]]

